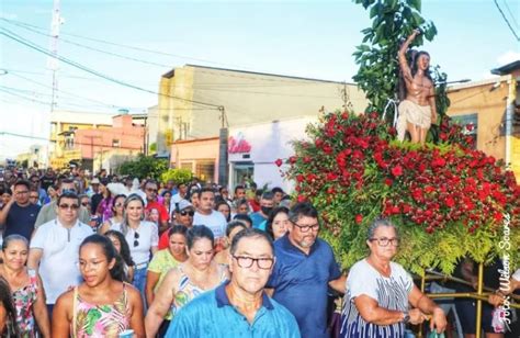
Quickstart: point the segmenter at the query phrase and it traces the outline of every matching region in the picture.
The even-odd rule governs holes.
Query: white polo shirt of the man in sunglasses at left
[[[31,239],[31,249],[42,249],[39,275],[47,296],[47,304],[56,303],[58,296],[69,286],[81,283],[79,272],[79,246],[90,235],[92,228],[77,222],[70,229],[58,219],[42,224]]]

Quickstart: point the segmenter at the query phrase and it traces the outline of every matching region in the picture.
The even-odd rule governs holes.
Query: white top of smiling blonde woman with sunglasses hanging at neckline
[[[123,233],[121,224],[111,225],[110,229]],[[136,237],[136,234],[138,234],[139,238]],[[155,223],[142,221],[136,230],[128,227],[128,233],[126,233],[125,238],[128,243],[134,263],[147,263],[150,261],[151,247],[159,245],[159,229]],[[137,244],[137,246],[134,246],[134,244]]]

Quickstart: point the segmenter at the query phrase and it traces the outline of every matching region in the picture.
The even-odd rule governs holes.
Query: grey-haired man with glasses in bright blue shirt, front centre
[[[184,305],[166,337],[301,337],[294,316],[263,292],[274,264],[268,235],[244,229],[229,252],[231,280]]]

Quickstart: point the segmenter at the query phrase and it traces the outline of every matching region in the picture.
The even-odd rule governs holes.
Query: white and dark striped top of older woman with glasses
[[[391,275],[384,277],[366,259],[352,266],[347,278],[347,293],[341,312],[341,337],[404,337],[404,323],[385,326],[368,323],[354,304],[354,298],[364,294],[377,301],[380,307],[407,311],[412,279],[398,263],[391,262]]]

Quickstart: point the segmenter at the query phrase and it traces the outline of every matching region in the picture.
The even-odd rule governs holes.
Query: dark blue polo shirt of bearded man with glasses
[[[265,288],[273,288],[273,300],[296,317],[304,338],[328,337],[328,282],[341,277],[332,248],[317,238],[309,255],[296,248],[289,234],[274,241],[276,262]]]

